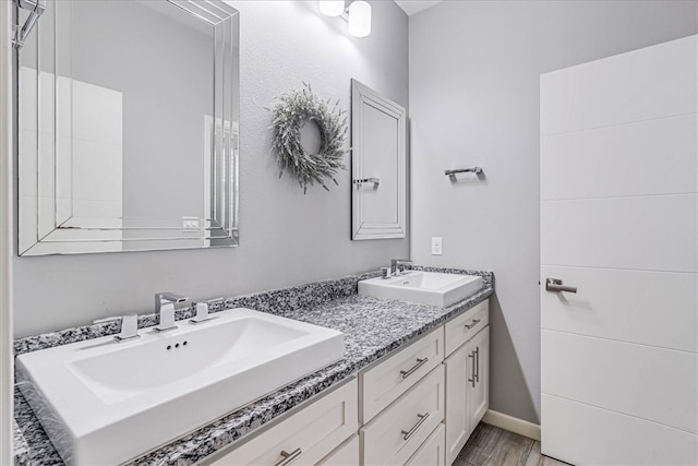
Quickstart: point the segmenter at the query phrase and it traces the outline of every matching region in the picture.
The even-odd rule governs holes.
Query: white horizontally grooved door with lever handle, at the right
[[[571,464],[698,464],[696,44],[541,76],[542,453]]]

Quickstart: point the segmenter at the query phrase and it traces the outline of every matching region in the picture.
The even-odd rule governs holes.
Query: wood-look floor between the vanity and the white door
[[[541,454],[541,442],[480,422],[453,466],[567,466]]]

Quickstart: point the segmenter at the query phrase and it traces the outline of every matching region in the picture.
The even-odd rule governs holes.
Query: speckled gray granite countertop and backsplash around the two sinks
[[[222,309],[245,307],[338,330],[345,334],[345,357],[130,464],[177,466],[194,464],[470,309],[494,291],[493,276],[489,272],[417,266],[413,268],[480,275],[483,277],[484,286],[476,295],[448,308],[357,295],[357,283],[360,279],[376,276],[376,273],[226,299]],[[191,314],[191,309],[178,311],[178,319],[189,318]],[[154,323],[152,315],[140,320],[141,327],[151,326]],[[116,332],[115,324],[103,324],[22,338],[15,342],[15,353],[19,355]],[[19,390],[15,390],[15,420],[21,432],[17,433],[22,438],[19,440],[20,443],[15,443],[20,445],[19,449],[15,447],[16,464],[63,464],[44,432],[37,416]]]

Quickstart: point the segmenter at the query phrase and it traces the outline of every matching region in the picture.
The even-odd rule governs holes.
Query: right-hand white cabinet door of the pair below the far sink
[[[484,327],[466,345],[469,348],[469,374],[474,383],[468,387],[468,414],[472,432],[490,406],[490,326]]]

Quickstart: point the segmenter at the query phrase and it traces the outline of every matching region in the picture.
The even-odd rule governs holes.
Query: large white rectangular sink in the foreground
[[[250,309],[168,332],[17,357],[17,377],[68,465],[119,464],[344,357],[340,332]]]

